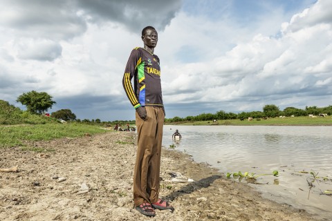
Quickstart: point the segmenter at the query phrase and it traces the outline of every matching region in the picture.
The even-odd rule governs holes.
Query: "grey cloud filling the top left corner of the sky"
[[[74,1],[1,2],[0,25],[16,35],[46,39],[71,39],[86,31],[84,18],[77,15]]]

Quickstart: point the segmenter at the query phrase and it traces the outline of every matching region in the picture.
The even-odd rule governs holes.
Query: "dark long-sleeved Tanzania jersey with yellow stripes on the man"
[[[131,79],[133,85],[131,85]],[[159,58],[144,48],[131,51],[122,79],[123,88],[134,108],[163,106]]]

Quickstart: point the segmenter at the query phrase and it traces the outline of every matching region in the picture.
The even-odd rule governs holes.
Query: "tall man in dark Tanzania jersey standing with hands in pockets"
[[[138,146],[133,172],[133,202],[140,213],[156,215],[154,209],[174,208],[158,198],[160,153],[165,109],[160,84],[159,58],[154,55],[158,33],[154,27],[142,30],[144,48],[134,48],[122,79],[123,88],[136,109]],[[131,84],[133,79],[134,87]]]

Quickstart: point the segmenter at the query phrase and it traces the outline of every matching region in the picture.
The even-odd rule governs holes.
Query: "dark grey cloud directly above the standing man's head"
[[[77,6],[82,8],[82,14],[88,21],[116,21],[133,32],[138,32],[148,25],[164,30],[181,8],[181,4],[181,0],[77,1]]]

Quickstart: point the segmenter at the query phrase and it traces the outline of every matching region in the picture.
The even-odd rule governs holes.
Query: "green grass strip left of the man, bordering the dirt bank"
[[[53,140],[61,137],[83,137],[86,133],[110,133],[89,124],[34,124],[0,126],[0,148],[25,146],[24,141]]]

